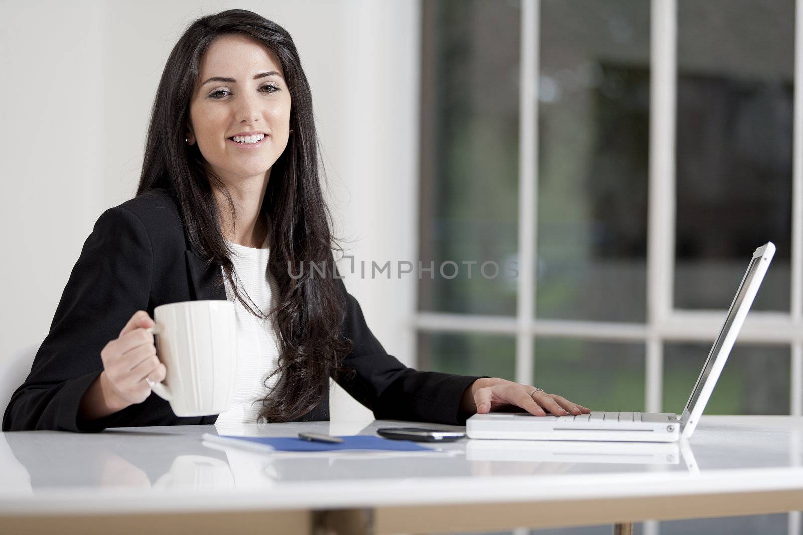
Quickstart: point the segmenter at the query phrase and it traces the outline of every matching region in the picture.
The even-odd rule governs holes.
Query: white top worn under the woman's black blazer
[[[267,313],[273,304],[275,283],[267,278],[267,258],[270,249],[246,247],[226,241],[232,249],[234,277],[237,278],[240,294],[256,309]],[[263,246],[267,245],[266,241]],[[222,268],[221,268],[222,270]],[[245,291],[243,291],[245,290]],[[236,432],[242,424],[256,423],[263,399],[268,389],[267,375],[278,366],[279,344],[274,324],[257,318],[243,303],[234,297],[234,290],[226,280],[226,298],[234,302],[237,322],[238,363],[234,397],[229,409],[218,415],[215,425],[226,432]],[[268,386],[275,385],[279,375],[274,375]]]

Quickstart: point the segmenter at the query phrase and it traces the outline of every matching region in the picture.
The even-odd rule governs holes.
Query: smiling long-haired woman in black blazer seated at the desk
[[[298,277],[298,266],[334,266],[330,229],[290,34],[247,10],[199,18],[162,72],[137,196],[97,220],[3,431],[328,419],[330,377],[377,418],[589,412],[532,385],[388,355],[333,269]],[[146,329],[156,306],[198,299],[234,301],[237,403],[177,417],[145,380],[165,378]]]

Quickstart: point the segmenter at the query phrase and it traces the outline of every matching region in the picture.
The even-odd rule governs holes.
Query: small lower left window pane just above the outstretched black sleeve
[[[516,338],[508,335],[418,333],[418,369],[516,379]]]

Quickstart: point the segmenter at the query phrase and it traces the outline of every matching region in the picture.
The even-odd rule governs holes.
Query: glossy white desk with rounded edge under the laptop
[[[351,435],[401,424],[248,431]],[[0,533],[313,533],[321,525],[329,532],[315,533],[450,533],[803,509],[803,418],[790,416],[703,417],[691,454],[666,444],[582,452],[589,443],[461,440],[424,454],[263,456],[201,444],[203,432],[218,431],[227,434],[214,426],[3,433]]]

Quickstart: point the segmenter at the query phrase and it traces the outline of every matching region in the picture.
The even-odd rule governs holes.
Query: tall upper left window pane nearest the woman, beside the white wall
[[[518,249],[519,5],[422,9],[419,242],[434,278],[422,273],[418,307],[513,315],[516,278],[505,266]]]

